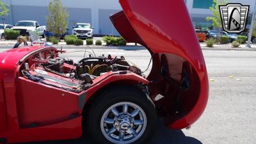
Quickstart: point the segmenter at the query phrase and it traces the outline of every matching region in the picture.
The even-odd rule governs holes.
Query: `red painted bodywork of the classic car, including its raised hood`
[[[35,56],[45,57],[57,52],[53,47],[20,47],[0,53],[0,140],[8,143],[48,141],[79,138],[83,111],[92,97],[113,83],[148,86],[150,98],[164,124],[172,129],[184,129],[202,115],[208,99],[208,78],[205,61],[195,30],[183,0],[120,0],[124,11],[111,20],[127,42],[144,45],[152,54],[152,72],[147,78],[134,73],[108,72],[93,80],[93,86],[82,92],[68,92],[45,86],[22,77],[24,63],[33,67]],[[186,26],[182,26],[186,24]],[[180,29],[182,26],[182,29]],[[184,41],[183,34],[189,37]],[[38,62],[38,61],[37,61]],[[65,69],[72,66],[64,65]],[[159,72],[164,71],[164,78]],[[184,74],[189,77],[189,88],[180,98],[180,115],[173,113],[175,96]],[[169,80],[171,81],[169,81]],[[174,81],[174,83],[172,82]],[[186,85],[186,84],[185,84]],[[188,84],[187,84],[188,85]],[[164,100],[154,100],[157,95]],[[168,113],[166,115],[166,113]],[[163,114],[163,115],[162,115]],[[90,131],[88,129],[87,131]]]

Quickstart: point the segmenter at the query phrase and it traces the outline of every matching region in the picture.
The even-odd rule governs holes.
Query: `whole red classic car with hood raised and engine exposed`
[[[157,116],[170,129],[198,120],[209,86],[184,1],[120,4],[123,11],[111,16],[113,25],[127,42],[150,51],[149,76],[124,57],[92,56],[74,63],[54,47],[1,52],[0,143],[74,139],[83,132],[95,143],[147,143]]]

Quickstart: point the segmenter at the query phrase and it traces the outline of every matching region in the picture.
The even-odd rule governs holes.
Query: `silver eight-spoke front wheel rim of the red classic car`
[[[145,112],[131,102],[120,102],[109,107],[100,121],[100,129],[105,138],[118,144],[138,140],[146,127]]]

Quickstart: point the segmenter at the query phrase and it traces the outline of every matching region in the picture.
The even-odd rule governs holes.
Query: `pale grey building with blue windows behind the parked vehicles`
[[[19,20],[37,20],[41,25],[46,25],[47,5],[51,0],[3,1],[10,5],[10,13],[1,19],[2,22],[15,24]],[[249,4],[253,8],[254,1],[230,0],[230,3]],[[76,22],[88,22],[95,28],[94,34],[118,35],[109,20],[111,14],[122,10],[118,0],[62,0],[62,2],[67,6],[70,15],[69,29],[72,29]],[[211,15],[209,6],[212,0],[186,0],[185,2],[195,25],[211,26],[211,22],[206,22],[205,17]]]

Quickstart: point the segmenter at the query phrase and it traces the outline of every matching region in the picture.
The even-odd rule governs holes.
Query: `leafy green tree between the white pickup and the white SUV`
[[[63,6],[61,0],[52,0],[48,5],[49,14],[46,17],[47,29],[61,37],[68,28],[67,7]]]

